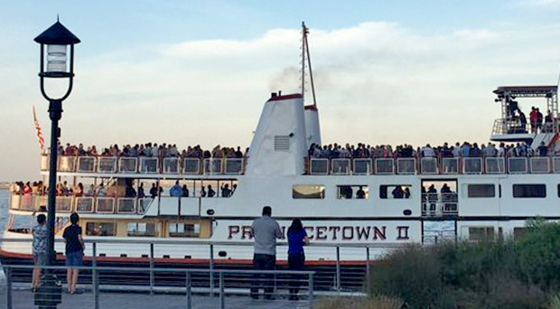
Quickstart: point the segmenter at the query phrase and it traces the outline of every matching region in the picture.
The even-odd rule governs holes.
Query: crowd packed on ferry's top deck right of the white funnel
[[[481,144],[459,142],[455,145],[444,143],[443,145],[431,146],[427,144],[423,147],[413,145],[397,145],[395,149],[391,145],[358,145],[346,144],[345,146],[336,143],[330,145],[312,144],[308,153],[310,158],[326,159],[377,159],[377,158],[424,158],[424,157],[529,157],[529,156],[548,156],[560,155],[555,153],[554,148],[541,143],[537,149],[532,149],[527,143],[499,145],[488,143]]]

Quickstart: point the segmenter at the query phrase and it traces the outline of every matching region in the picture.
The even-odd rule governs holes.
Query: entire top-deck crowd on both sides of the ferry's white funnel
[[[533,126],[531,126],[533,127]],[[535,124],[535,130],[539,126]],[[114,156],[114,157],[157,157],[159,159],[168,157],[178,158],[245,158],[248,148],[245,152],[241,151],[241,147],[221,147],[215,146],[211,151],[201,149],[200,145],[188,146],[181,152],[176,145],[172,144],[137,144],[134,146],[111,145],[104,148],[98,154],[95,145],[85,148],[82,144],[66,146],[59,145],[58,155],[70,156]],[[358,145],[346,144],[344,146],[334,143],[329,145],[312,144],[309,148],[308,155],[310,158],[328,158],[328,159],[356,159],[356,158],[407,158],[407,157],[513,157],[513,156],[547,156],[560,155],[560,149],[554,149],[554,146],[546,146],[541,143],[537,149],[532,149],[527,143],[519,142],[516,144],[494,144],[457,142],[455,145],[444,143],[443,145],[415,147],[413,145],[397,145],[393,148],[391,145],[366,145],[359,143]]]

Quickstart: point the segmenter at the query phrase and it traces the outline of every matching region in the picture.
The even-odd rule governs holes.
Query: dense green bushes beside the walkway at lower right
[[[551,293],[560,291],[560,223],[529,221],[518,242],[409,245],[378,261],[369,282],[370,295],[408,308],[560,309]]]

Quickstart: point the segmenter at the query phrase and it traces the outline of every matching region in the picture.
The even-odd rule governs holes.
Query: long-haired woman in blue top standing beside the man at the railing
[[[302,220],[294,219],[288,229],[288,266],[290,270],[303,270],[305,252],[303,245],[309,245],[309,238],[303,229]],[[290,300],[298,300],[302,277],[295,275],[290,282]]]

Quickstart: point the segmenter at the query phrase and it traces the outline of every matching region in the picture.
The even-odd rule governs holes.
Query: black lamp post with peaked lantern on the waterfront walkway
[[[41,80],[42,97],[49,101],[49,117],[51,117],[51,162],[49,168],[49,200],[48,200],[48,228],[49,236],[47,238],[47,254],[48,265],[56,265],[56,254],[54,251],[54,225],[56,218],[56,172],[57,172],[57,152],[58,139],[60,137],[59,120],[62,117],[62,101],[70,96],[72,91],[72,82],[74,78],[74,44],[79,43],[79,38],[70,33],[66,27],[58,21],[51,27],[39,34],[34,39],[35,42],[41,44],[41,70],[39,77]],[[68,50],[70,47],[70,55]],[[46,50],[46,53],[45,53]],[[69,61],[70,58],[70,61]],[[66,93],[59,98],[52,98],[45,90],[45,79],[67,80],[68,88]],[[50,272],[43,278],[43,292],[45,295],[52,295],[56,290],[56,277]],[[46,289],[46,290],[45,290]],[[58,293],[55,293],[58,295]],[[58,297],[55,297],[58,298]],[[60,303],[60,299],[55,301],[47,301],[39,304],[43,308],[56,308],[56,304]]]

